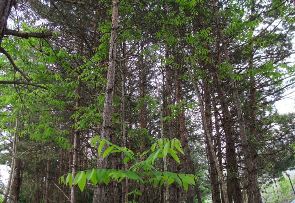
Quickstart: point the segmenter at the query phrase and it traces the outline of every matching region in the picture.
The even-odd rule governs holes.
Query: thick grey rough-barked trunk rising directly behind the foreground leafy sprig
[[[110,125],[111,125],[111,114],[112,114],[112,92],[115,84],[115,69],[116,69],[116,55],[117,55],[117,27],[119,18],[119,0],[113,0],[113,12],[112,12],[112,29],[110,36],[110,47],[109,47],[109,66],[107,73],[106,82],[106,93],[104,97],[104,112],[103,112],[103,123],[101,137],[110,140]],[[103,147],[103,151],[106,150],[107,145]],[[97,159],[97,168],[103,169],[107,167],[108,157],[102,158],[102,154]],[[106,184],[101,183],[96,185],[94,190],[93,203],[108,202],[106,199]]]

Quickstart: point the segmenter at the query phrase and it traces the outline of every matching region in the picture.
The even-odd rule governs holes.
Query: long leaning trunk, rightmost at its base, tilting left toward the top
[[[212,0],[212,4],[213,4],[214,14],[215,14],[216,21],[217,21],[218,32],[219,32],[220,39],[221,39],[222,46],[223,46],[224,55],[225,55],[227,62],[230,63],[230,56],[228,54],[227,45],[226,45],[224,37],[223,37],[222,27],[220,24],[220,18],[218,15],[218,10],[217,10],[215,0]],[[229,72],[231,74],[233,74],[232,69],[229,69]],[[249,183],[248,196],[250,194],[250,196],[253,197],[252,199],[250,199],[250,201],[248,199],[248,203],[251,203],[251,202],[261,203],[262,199],[261,199],[261,194],[260,194],[260,190],[259,190],[259,186],[258,186],[255,165],[254,165],[253,159],[251,157],[250,147],[249,147],[249,143],[248,143],[248,137],[247,137],[246,130],[245,130],[245,119],[244,119],[244,116],[242,113],[240,95],[237,90],[237,84],[236,84],[235,79],[231,78],[231,84],[232,84],[234,101],[235,101],[236,110],[237,110],[237,117],[238,117],[239,128],[240,128],[240,138],[242,141],[242,149],[243,149],[243,152],[245,155],[245,165],[246,165],[247,171],[248,171],[248,176],[247,176],[248,183]]]

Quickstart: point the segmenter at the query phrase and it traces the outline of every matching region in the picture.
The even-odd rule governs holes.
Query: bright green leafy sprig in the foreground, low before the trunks
[[[114,169],[95,170],[94,168],[86,171],[86,173],[84,171],[80,171],[76,174],[74,181],[72,173],[68,173],[66,179],[64,178],[64,176],[60,177],[60,183],[66,185],[68,184],[69,186],[71,186],[73,183],[75,185],[78,184],[81,191],[83,191],[85,188],[86,179],[88,181],[91,181],[94,185],[101,184],[103,181],[106,185],[108,185],[110,179],[118,180],[118,182],[120,182],[126,177],[128,179],[141,182],[142,184],[153,182],[154,187],[156,187],[159,183],[160,185],[163,185],[165,181],[168,181],[168,185],[176,181],[176,183],[181,187],[183,186],[186,191],[188,190],[189,185],[196,185],[196,176],[194,176],[193,174],[171,173],[169,171],[155,171],[155,168],[153,167],[153,164],[157,158],[166,157],[168,154],[170,154],[171,157],[180,164],[180,160],[177,154],[184,153],[178,139],[160,139],[155,142],[149,150],[144,151],[138,158],[134,156],[132,150],[126,147],[119,147],[118,145],[114,145],[105,139],[101,140],[99,136],[95,136],[91,139],[92,144],[96,145],[97,142],[99,143],[99,155],[102,153],[103,146],[106,144],[109,145],[109,147],[103,152],[103,158],[111,153],[124,153],[126,155],[124,163],[130,161],[131,163],[133,163],[133,165],[130,166],[128,171]],[[146,158],[144,161],[141,161],[143,157]],[[141,169],[143,169],[144,171],[142,172]],[[148,179],[145,178],[145,180],[143,180],[142,177],[148,177]],[[132,192],[130,194],[132,194]]]

